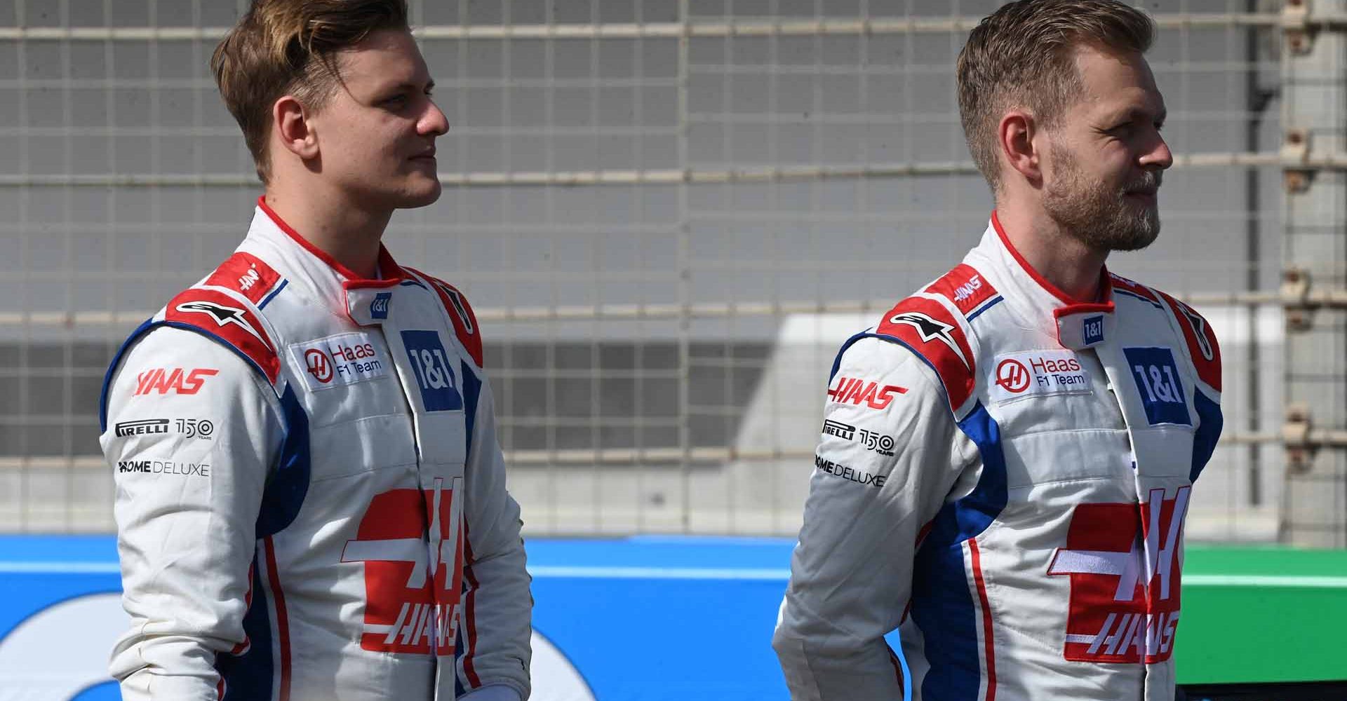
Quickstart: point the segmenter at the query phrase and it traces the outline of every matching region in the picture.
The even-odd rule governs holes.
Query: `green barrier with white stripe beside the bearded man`
[[[1347,550],[1189,546],[1179,682],[1347,679]]]

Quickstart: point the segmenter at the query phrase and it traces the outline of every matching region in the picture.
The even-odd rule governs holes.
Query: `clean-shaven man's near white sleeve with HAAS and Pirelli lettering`
[[[160,327],[108,389],[123,607],[109,671],[127,701],[218,698],[214,662],[245,642],[255,522],[282,439],[275,393],[199,334]]]

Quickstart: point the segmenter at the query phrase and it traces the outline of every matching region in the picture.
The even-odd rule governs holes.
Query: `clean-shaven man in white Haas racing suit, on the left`
[[[123,698],[521,701],[481,328],[380,244],[449,131],[404,0],[255,0],[211,59],[265,186],[108,370]]]

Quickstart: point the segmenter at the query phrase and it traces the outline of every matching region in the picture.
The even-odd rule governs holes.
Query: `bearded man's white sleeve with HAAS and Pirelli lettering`
[[[861,339],[835,378],[866,385],[826,405],[772,646],[796,701],[893,701],[902,685],[884,635],[907,608],[920,530],[971,447],[935,371],[905,347]]]

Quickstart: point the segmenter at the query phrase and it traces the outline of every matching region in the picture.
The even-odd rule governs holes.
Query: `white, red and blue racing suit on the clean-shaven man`
[[[264,203],[108,370],[123,698],[527,698],[532,599],[477,322]],[[475,692],[475,693],[474,693]]]

